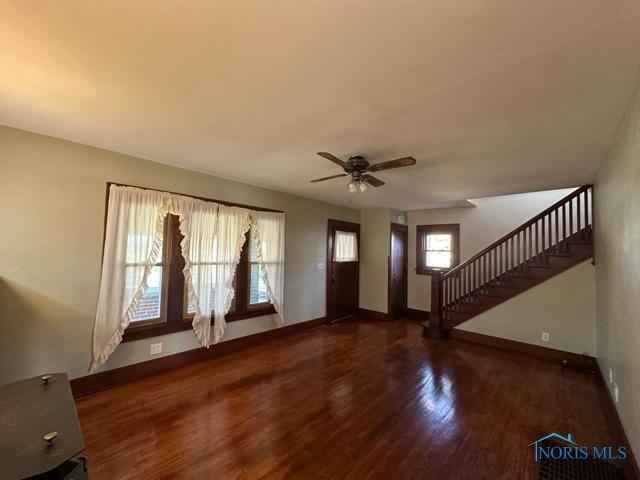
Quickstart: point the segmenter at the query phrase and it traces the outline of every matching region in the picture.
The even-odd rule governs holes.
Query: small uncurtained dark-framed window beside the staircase
[[[460,260],[460,225],[416,227],[416,272],[428,275],[447,271]]]

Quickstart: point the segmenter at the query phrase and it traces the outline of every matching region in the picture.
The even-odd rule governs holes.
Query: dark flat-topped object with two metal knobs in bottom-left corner
[[[69,379],[47,374],[0,387],[0,465],[7,480],[86,478]]]

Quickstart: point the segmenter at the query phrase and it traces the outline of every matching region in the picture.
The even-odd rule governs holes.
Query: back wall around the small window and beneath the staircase
[[[416,225],[460,224],[461,258],[471,257],[572,189],[474,199],[475,207],[408,212],[409,307],[429,310],[430,277],[415,273]],[[595,273],[587,262],[460,325],[487,335],[594,354]],[[567,292],[572,294],[568,295]],[[542,332],[550,333],[541,342]]]

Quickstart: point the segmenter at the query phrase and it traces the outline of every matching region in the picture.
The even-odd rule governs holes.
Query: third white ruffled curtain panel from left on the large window
[[[250,227],[249,210],[220,205],[213,252],[216,265],[213,292],[213,343],[218,343],[224,335],[226,327],[224,316],[229,312],[234,296],[233,277],[240,262],[245,234]]]

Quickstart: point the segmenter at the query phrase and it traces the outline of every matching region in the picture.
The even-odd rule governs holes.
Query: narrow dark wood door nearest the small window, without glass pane
[[[392,223],[389,252],[389,313],[392,317],[407,313],[408,241],[408,227]]]

